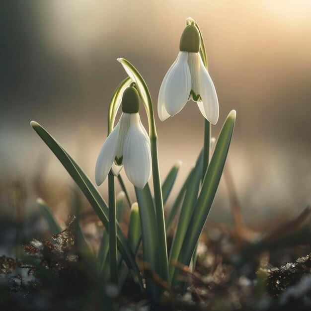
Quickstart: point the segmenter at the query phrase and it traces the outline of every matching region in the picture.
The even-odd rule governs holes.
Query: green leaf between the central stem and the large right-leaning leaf
[[[169,277],[170,280],[173,277],[175,271],[175,265],[172,265],[172,261],[175,261],[178,258],[180,249],[184,242],[185,234],[191,219],[191,216],[194,211],[194,206],[198,198],[200,180],[202,174],[202,165],[203,165],[203,152],[201,151],[200,156],[196,162],[196,165],[192,172],[190,173],[189,182],[183,200],[179,218],[176,226],[175,235],[173,238],[170,255],[169,255]]]

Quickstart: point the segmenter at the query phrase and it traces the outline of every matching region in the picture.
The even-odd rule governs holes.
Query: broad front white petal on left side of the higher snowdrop
[[[190,90],[188,52],[179,52],[176,64],[170,71],[164,87],[164,105],[170,116],[174,116],[185,106]]]

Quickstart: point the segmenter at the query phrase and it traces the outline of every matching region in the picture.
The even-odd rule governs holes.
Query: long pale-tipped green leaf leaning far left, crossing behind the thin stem
[[[31,126],[41,137],[41,139],[46,143],[46,145],[51,149],[55,156],[57,156],[57,158],[61,161],[63,166],[77,183],[78,187],[81,189],[86,199],[89,201],[94,211],[98,215],[99,219],[107,229],[109,225],[107,217],[108,207],[99,192],[96,190],[95,186],[82,171],[82,169],[78,166],[75,160],[63,149],[63,147],[61,147],[61,145],[59,145],[54,140],[54,138],[40,124],[32,121]],[[142,290],[144,290],[139,268],[119,224],[117,224],[117,244],[123,259],[125,260],[128,267],[134,270],[139,280],[140,287]]]

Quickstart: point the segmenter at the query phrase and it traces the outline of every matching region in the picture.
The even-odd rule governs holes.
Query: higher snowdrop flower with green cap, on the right
[[[194,22],[184,29],[179,50],[159,90],[158,116],[164,121],[177,114],[192,99],[197,102],[204,118],[216,124],[219,116],[217,94],[199,53],[200,33]]]

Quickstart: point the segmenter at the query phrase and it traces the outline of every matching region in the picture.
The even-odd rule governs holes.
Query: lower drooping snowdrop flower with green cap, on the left
[[[118,174],[124,166],[132,184],[143,189],[151,176],[150,139],[138,114],[139,96],[134,87],[125,89],[121,105],[123,113],[120,120],[98,155],[95,181],[99,186],[110,169]]]

